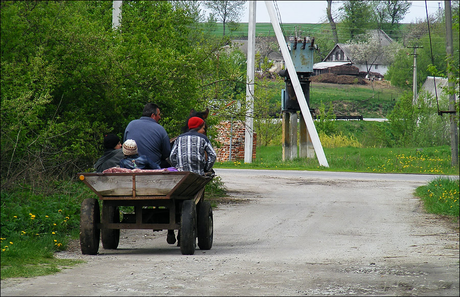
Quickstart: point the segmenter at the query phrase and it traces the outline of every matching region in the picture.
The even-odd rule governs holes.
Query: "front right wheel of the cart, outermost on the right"
[[[209,201],[198,203],[198,246],[211,249],[213,246],[213,209]]]

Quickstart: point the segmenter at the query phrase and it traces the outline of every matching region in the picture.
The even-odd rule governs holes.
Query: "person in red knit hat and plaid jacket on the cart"
[[[216,162],[216,152],[204,135],[204,120],[190,118],[189,131],[177,136],[169,159],[178,171],[191,171],[201,175],[210,172]],[[208,157],[206,157],[208,154]]]

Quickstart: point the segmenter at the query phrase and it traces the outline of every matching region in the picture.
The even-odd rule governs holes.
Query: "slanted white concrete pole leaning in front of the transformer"
[[[304,93],[302,91],[302,87],[300,81],[295,71],[294,63],[292,62],[291,55],[289,54],[289,50],[286,44],[286,40],[281,32],[280,22],[278,21],[277,17],[275,16],[274,7],[271,1],[265,0],[265,6],[267,7],[268,15],[270,16],[271,25],[273,26],[273,30],[277,36],[278,43],[281,48],[281,53],[283,54],[284,62],[286,63],[286,67],[288,70],[292,86],[295,91],[295,96],[297,97],[298,104],[301,108],[302,115],[305,119],[305,123],[307,125],[308,133],[310,134],[311,141],[313,143],[313,147],[316,152],[316,156],[318,158],[319,165],[329,167],[328,161],[326,159],[326,155],[324,154],[323,146],[321,146],[321,142],[319,140],[318,132],[316,131],[315,123],[313,122],[313,118],[311,117],[310,108],[308,107],[307,101],[305,100]]]

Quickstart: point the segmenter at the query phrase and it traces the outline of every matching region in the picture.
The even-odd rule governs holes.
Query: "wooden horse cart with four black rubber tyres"
[[[178,230],[182,255],[193,255],[197,241],[200,249],[211,249],[213,210],[204,200],[204,187],[212,176],[149,171],[78,173],[78,178],[98,196],[86,198],[81,204],[82,254],[96,255],[99,239],[105,249],[116,249],[121,229]],[[132,208],[126,208],[129,213],[120,216],[120,207]]]

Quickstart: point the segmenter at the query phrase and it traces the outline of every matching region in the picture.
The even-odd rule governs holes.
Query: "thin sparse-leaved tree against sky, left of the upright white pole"
[[[225,36],[225,24],[227,21],[239,22],[241,13],[244,9],[246,1],[204,1],[204,7],[211,9],[217,16],[217,19],[222,21],[223,36]]]

